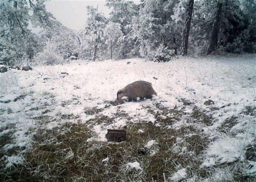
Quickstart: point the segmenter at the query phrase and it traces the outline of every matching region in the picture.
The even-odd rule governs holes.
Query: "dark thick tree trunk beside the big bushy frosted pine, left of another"
[[[181,44],[181,55],[186,56],[188,53],[188,37],[189,37],[189,29],[191,24],[191,17],[193,11],[194,0],[189,0],[187,10],[186,10],[186,26],[183,30],[183,39]]]

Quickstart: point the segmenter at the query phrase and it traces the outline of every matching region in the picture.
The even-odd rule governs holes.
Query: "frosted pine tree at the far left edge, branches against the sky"
[[[17,62],[24,56],[32,59],[41,49],[37,35],[28,29],[28,24],[31,22],[33,26],[44,27],[50,16],[52,15],[46,11],[44,0],[0,2],[0,37],[14,47],[15,51],[15,58],[9,59],[9,62]]]

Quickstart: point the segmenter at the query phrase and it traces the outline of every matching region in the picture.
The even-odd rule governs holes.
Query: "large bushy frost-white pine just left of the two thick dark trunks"
[[[139,53],[152,61],[169,61],[175,52],[176,32],[171,1],[144,1],[133,19],[133,32],[140,42]]]

